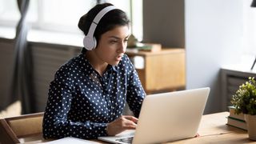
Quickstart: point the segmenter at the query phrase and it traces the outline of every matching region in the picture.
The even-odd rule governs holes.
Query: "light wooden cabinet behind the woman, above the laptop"
[[[126,51],[146,94],[184,89],[186,66],[184,49],[162,49],[158,52]]]

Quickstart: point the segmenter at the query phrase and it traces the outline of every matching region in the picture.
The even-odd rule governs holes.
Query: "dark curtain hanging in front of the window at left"
[[[26,24],[26,13],[30,0],[17,0],[18,10],[21,18],[16,27],[14,39],[14,74],[12,96],[18,97],[22,103],[22,114],[34,112],[34,97],[32,85],[32,61],[31,52],[26,42],[28,25]]]

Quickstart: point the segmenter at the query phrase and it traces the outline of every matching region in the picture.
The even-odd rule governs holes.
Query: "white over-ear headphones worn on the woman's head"
[[[98,25],[98,22],[102,19],[102,17],[108,13],[110,10],[117,9],[115,6],[107,6],[102,9],[94,18],[94,21],[91,22],[90,28],[88,30],[87,35],[83,38],[83,46],[86,50],[94,50],[97,46],[96,38],[94,37],[94,31]]]

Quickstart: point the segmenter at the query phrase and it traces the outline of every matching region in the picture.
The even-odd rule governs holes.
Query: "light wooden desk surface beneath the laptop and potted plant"
[[[240,130],[232,126],[226,125],[226,117],[229,115],[228,112],[206,114],[202,116],[202,122],[198,129],[197,138],[189,138],[179,140],[177,144],[184,143],[218,143],[218,144],[235,144],[235,143],[256,143],[256,141],[250,141],[248,134],[245,130]],[[39,136],[40,137],[40,136]],[[41,136],[42,137],[42,136]],[[32,138],[33,139],[33,138]],[[25,142],[25,143],[38,143],[40,141]],[[95,141],[94,141],[95,142]],[[99,142],[96,140],[96,142]]]

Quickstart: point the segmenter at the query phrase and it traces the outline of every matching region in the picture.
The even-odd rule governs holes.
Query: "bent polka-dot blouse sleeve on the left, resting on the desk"
[[[72,122],[68,113],[72,102],[73,86],[69,78],[57,72],[50,82],[49,98],[43,117],[44,138],[97,138],[106,136],[107,123]]]

